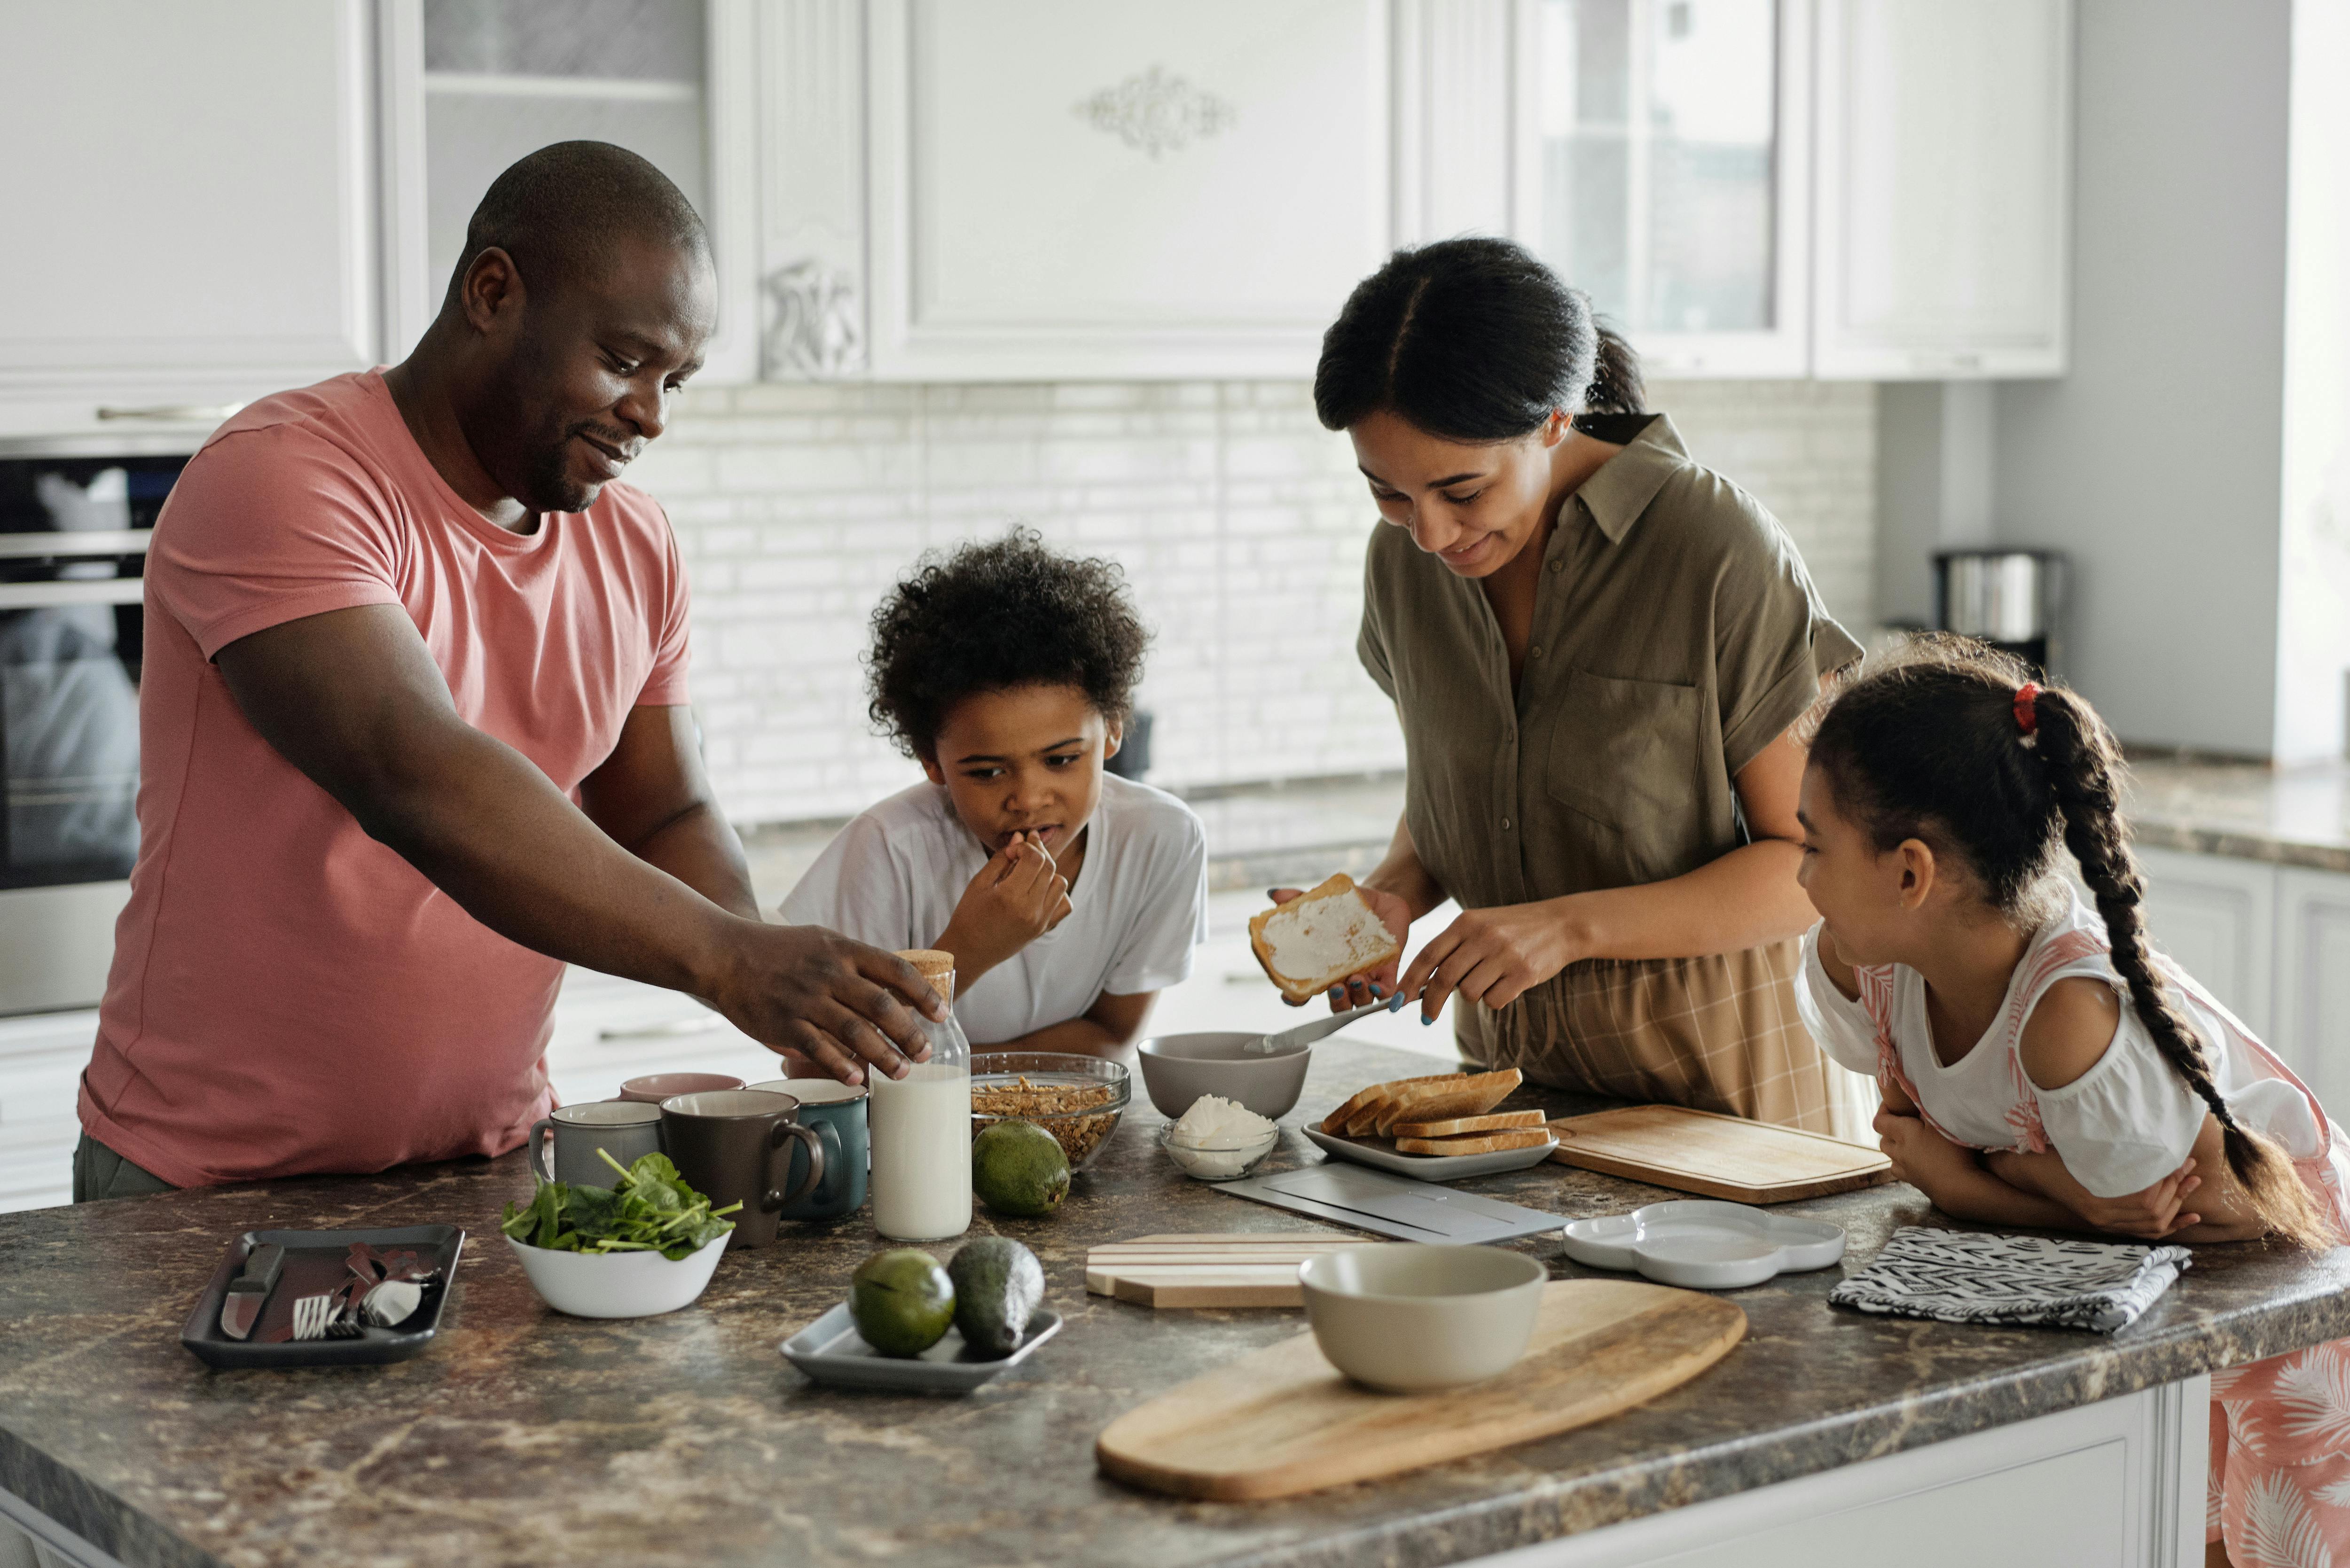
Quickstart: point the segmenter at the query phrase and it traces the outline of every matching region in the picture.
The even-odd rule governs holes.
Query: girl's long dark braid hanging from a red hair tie
[[[2301,1185],[2284,1150],[2237,1124],[2228,1110],[2211,1079],[2202,1039],[2155,973],[2146,945],[2146,879],[2122,835],[2120,748],[2113,733],[2070,691],[2026,686],[2016,696],[2016,719],[2030,724],[2040,766],[2063,816],[2063,844],[2080,863],[2080,879],[2096,898],[2096,912],[2106,917],[2113,969],[2129,985],[2129,1001],[2146,1020],[2162,1060],[2211,1107],[2225,1140],[2228,1168],[2244,1185],[2268,1229],[2296,1246],[2319,1251],[2334,1246],[2341,1239],[2334,1222]]]

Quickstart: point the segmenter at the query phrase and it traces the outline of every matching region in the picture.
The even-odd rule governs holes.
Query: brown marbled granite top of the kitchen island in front
[[[1321,1046],[1278,1159],[1314,1159],[1302,1117],[1424,1070]],[[1821,1269],[1732,1293],[1746,1342],[1614,1420],[1375,1486],[1175,1502],[1102,1479],[1095,1434],[1302,1316],[1088,1298],[1086,1248],[1304,1222],[1184,1180],[1152,1147],[1159,1124],[1137,1103],[1060,1215],[973,1227],[1036,1248],[1067,1328],[968,1399],[825,1392],[776,1352],[877,1246],[862,1215],[733,1253],[700,1302],[642,1321],[557,1316],[529,1291],[496,1232],[501,1204],[529,1190],[519,1157],[0,1215],[0,1486],[127,1563],[1415,1568],[2350,1335],[2350,1248],[2202,1248],[2117,1338],[1838,1312],[1824,1302],[1838,1269]],[[1565,1166],[1469,1190],[1565,1215],[1659,1197]],[[1788,1208],[1849,1227],[1845,1267],[1929,1220],[1908,1187]],[[428,1220],[472,1239],[442,1338],[416,1361],[214,1373],[181,1349],[181,1319],[237,1232]],[[1518,1246],[1582,1274],[1556,1239]]]

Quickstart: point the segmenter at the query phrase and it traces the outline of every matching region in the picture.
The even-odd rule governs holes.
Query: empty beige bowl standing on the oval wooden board
[[[1330,1366],[1386,1394],[1499,1378],[1525,1354],[1551,1272],[1490,1246],[1349,1246],[1297,1269]]]

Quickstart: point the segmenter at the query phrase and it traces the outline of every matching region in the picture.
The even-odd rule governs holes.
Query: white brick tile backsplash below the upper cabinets
[[[1866,628],[1873,388],[1678,381],[1650,404]],[[1377,512],[1304,383],[696,388],[632,480],[677,529],[696,710],[740,823],[848,816],[919,778],[865,715],[872,607],[924,550],[1015,522],[1126,567],[1156,632],[1154,783],[1403,762],[1354,661]]]

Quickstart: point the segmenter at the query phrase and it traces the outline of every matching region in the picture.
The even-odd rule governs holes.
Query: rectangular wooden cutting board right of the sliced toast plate
[[[1786,1204],[1892,1180],[1880,1150],[1683,1105],[1563,1117],[1558,1164],[1732,1204]]]

